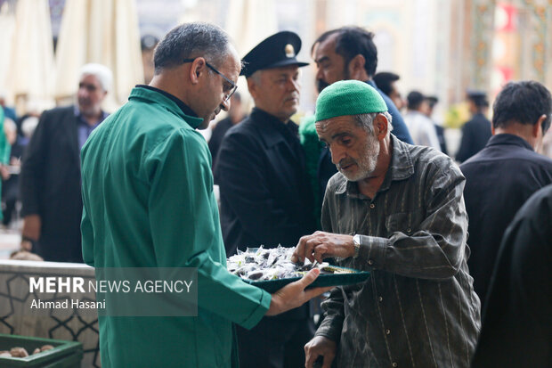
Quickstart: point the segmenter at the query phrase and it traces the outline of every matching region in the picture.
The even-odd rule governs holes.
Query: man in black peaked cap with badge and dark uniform
[[[295,246],[312,233],[313,200],[298,127],[301,39],[293,32],[266,38],[244,58],[255,109],[224,136],[215,165],[221,227],[228,256],[246,247]],[[308,306],[264,318],[251,331],[238,327],[242,367],[299,367],[313,338]]]

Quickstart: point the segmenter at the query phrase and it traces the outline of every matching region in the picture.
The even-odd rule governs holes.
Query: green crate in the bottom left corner
[[[52,345],[53,349],[32,355],[35,348],[43,345]],[[0,368],[77,368],[83,359],[83,345],[78,341],[0,333],[0,350],[11,348],[25,348],[31,355],[24,358],[0,356]]]

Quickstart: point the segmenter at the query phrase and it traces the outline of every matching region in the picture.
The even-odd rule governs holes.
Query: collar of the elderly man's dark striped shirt
[[[414,163],[408,149],[408,144],[401,142],[394,135],[389,135],[391,139],[391,161],[387,168],[386,177],[377,192],[383,192],[389,189],[394,181],[405,180],[414,174]],[[356,182],[344,180],[337,187],[337,194],[347,193],[351,197],[359,198],[361,193],[358,190]],[[363,196],[362,196],[363,197]]]

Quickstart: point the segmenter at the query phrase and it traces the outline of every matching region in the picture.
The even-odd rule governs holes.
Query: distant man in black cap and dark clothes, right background
[[[491,138],[491,121],[485,117],[489,102],[487,94],[483,91],[467,90],[467,103],[472,119],[462,127],[462,141],[456,154],[456,160],[464,162],[483,150],[489,138]]]

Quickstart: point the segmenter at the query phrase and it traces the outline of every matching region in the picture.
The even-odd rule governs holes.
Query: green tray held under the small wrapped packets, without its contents
[[[353,283],[365,282],[369,278],[368,271],[359,271],[353,268],[332,266],[334,268],[350,271],[350,274],[320,274],[312,284],[310,284],[307,289],[325,287],[325,286],[342,286],[342,285],[351,285]],[[263,281],[251,281],[243,280],[248,282],[251,285],[261,288],[268,292],[274,292],[280,290],[286,286],[289,282],[296,282],[300,280],[301,277],[290,277],[288,279],[277,279],[277,280],[263,280]]]

